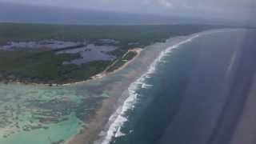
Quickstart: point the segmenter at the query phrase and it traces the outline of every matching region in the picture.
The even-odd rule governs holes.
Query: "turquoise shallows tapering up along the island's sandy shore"
[[[160,42],[149,48],[155,52],[159,51],[156,48],[164,50],[168,45],[168,42]],[[83,84],[48,87],[0,83],[0,143],[51,144],[78,134],[86,125],[86,114],[95,110],[102,99],[120,97],[122,90],[139,76],[134,74],[134,69],[143,67],[142,70],[146,70],[147,65],[142,64],[146,56],[152,57],[154,52],[145,50],[141,54],[142,59],[138,58],[135,65],[102,80]],[[54,122],[51,122],[51,116]],[[41,128],[38,129],[38,126]]]

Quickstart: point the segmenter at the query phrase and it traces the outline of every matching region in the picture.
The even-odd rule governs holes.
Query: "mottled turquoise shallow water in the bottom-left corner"
[[[73,87],[45,87],[0,84],[0,143],[1,144],[50,144],[67,140],[78,134],[83,122],[75,112],[78,108],[67,110],[56,118],[60,122],[39,122],[37,117],[43,111],[63,113],[62,102],[70,106],[79,106],[90,94],[86,89]],[[47,116],[48,118],[48,116]],[[34,130],[24,130],[26,126],[46,126]]]

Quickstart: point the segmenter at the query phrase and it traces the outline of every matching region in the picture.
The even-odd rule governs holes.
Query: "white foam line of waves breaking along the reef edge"
[[[109,129],[105,132],[105,137],[103,138],[101,144],[109,144],[113,137],[117,138],[123,136],[121,132],[122,126],[125,122],[128,121],[128,116],[126,115],[127,110],[133,109],[134,104],[137,102],[138,94],[136,91],[139,88],[149,88],[151,85],[145,83],[146,78],[150,78],[150,74],[154,74],[156,70],[156,66],[159,62],[162,62],[162,58],[166,56],[166,54],[170,53],[171,50],[178,48],[182,44],[187,42],[191,42],[194,38],[198,38],[199,34],[191,36],[182,42],[178,42],[177,44],[168,47],[166,50],[162,50],[159,54],[158,58],[151,63],[150,68],[146,71],[145,74],[142,74],[140,78],[138,78],[135,82],[130,84],[128,88],[129,97],[126,98],[125,102],[123,102],[122,106],[118,107],[118,110],[115,111],[114,114],[109,118],[109,122],[111,122]]]

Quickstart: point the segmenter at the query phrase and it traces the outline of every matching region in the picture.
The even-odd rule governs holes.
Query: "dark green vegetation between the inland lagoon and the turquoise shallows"
[[[62,65],[77,54],[54,54],[37,50],[0,51],[0,81],[65,83],[89,79],[105,70],[109,61],[88,62],[81,66]]]

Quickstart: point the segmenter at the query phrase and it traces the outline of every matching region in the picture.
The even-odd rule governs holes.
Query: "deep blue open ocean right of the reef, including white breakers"
[[[255,72],[255,39],[255,30],[223,30],[163,51],[130,85],[102,143],[229,143]]]

